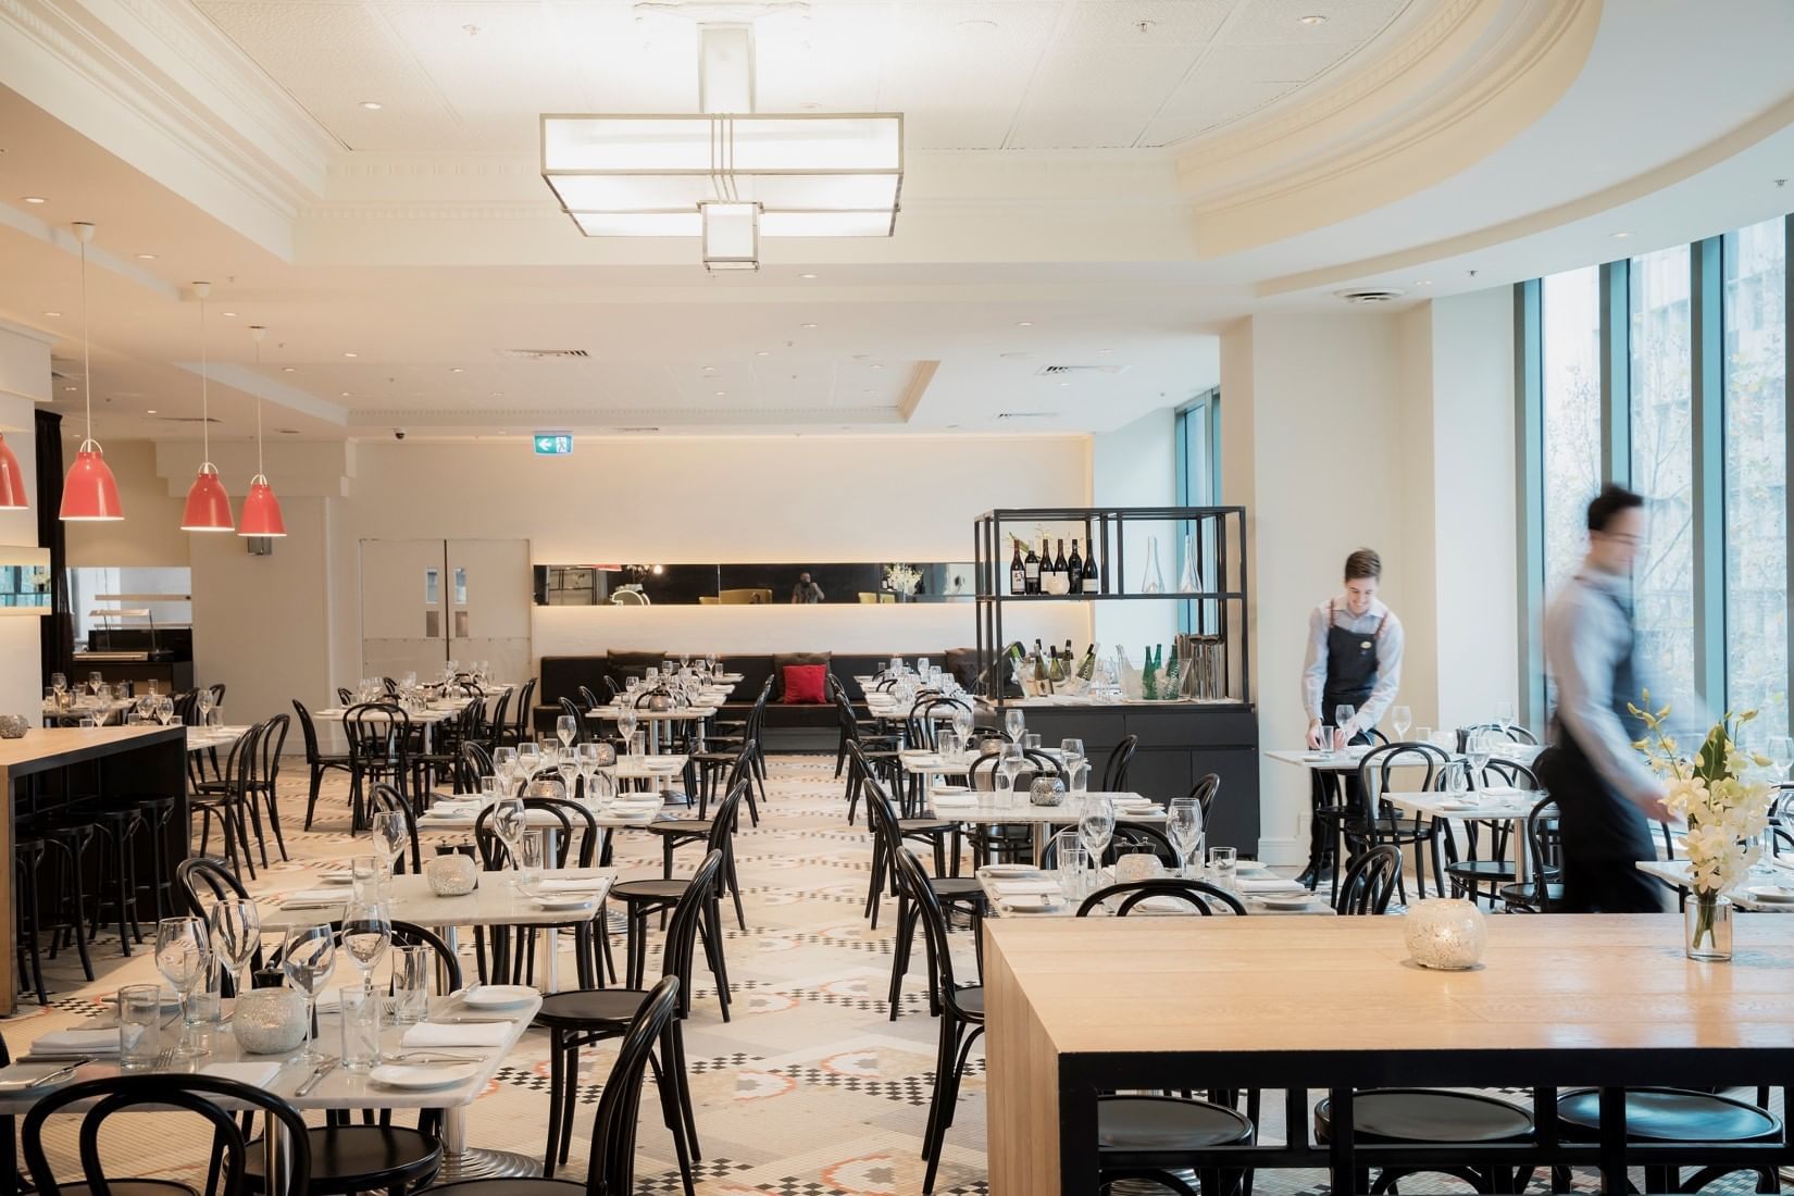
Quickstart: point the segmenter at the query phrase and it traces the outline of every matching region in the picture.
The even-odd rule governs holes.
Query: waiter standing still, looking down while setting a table
[[[1371,742],[1369,730],[1381,721],[1401,687],[1401,620],[1376,597],[1383,581],[1383,558],[1358,549],[1346,558],[1346,590],[1317,606],[1308,617],[1308,656],[1302,665],[1302,706],[1308,712],[1308,746],[1329,750]],[[1353,715],[1337,724],[1340,706]],[[1354,778],[1313,769],[1315,809],[1351,796]],[[1310,819],[1308,868],[1302,884],[1317,884],[1328,870],[1333,843]]]

